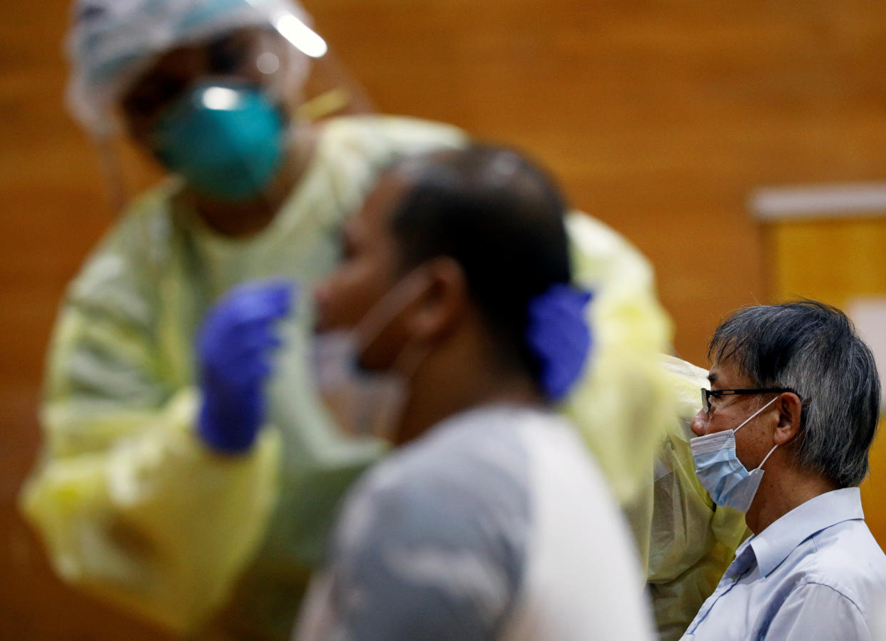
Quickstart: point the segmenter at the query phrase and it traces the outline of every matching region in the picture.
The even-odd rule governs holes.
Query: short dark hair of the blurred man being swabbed
[[[502,355],[537,376],[525,342],[529,300],[571,280],[566,205],[555,182],[525,155],[480,143],[392,169],[406,183],[391,218],[401,269],[455,259]]]

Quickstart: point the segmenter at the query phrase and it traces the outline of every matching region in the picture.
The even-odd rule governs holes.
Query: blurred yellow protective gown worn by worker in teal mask
[[[381,166],[464,140],[415,120],[333,120],[299,188],[248,241],[205,228],[175,182],[132,207],[72,283],[51,344],[43,457],[21,503],[59,575],[183,634],[288,637],[338,497],[383,448],[340,436],[315,398],[304,296],[284,321],[253,451],[209,452],[193,436],[194,334],[238,282],[284,275],[307,291],[334,265],[338,226]],[[650,470],[655,456],[657,470],[673,467],[666,445],[688,448],[680,418],[697,411],[697,381],[690,403],[681,394],[692,377],[659,363],[670,322],[640,253],[584,214],[567,228],[576,279],[595,291],[595,353],[564,411],[626,505],[659,623],[688,624],[726,548],[691,465],[656,483]]]

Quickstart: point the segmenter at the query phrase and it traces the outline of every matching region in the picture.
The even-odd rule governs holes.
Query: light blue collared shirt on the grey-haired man
[[[859,489],[834,490],[745,541],[683,640],[869,640],[884,593]]]

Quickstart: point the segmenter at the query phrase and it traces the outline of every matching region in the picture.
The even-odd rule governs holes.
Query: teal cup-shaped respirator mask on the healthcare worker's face
[[[284,158],[284,121],[258,89],[199,84],[154,127],[152,150],[190,189],[237,202],[260,196]]]

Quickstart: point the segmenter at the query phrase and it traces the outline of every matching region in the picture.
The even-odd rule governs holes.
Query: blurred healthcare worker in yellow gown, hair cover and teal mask
[[[384,452],[342,434],[312,391],[309,302],[276,295],[213,323],[207,311],[247,280],[310,287],[381,167],[465,139],[408,119],[306,120],[355,95],[324,80],[309,23],[289,0],[76,7],[74,114],[103,149],[128,130],[171,175],[67,291],[21,504],[68,583],[181,633],[285,637],[338,498]],[[743,523],[715,513],[685,465],[697,373],[659,362],[671,330],[649,265],[598,221],[566,224],[596,342],[564,411],[628,507],[657,622],[681,631]],[[237,323],[251,349],[283,342],[264,370],[226,356]],[[198,343],[204,325],[216,331]]]

